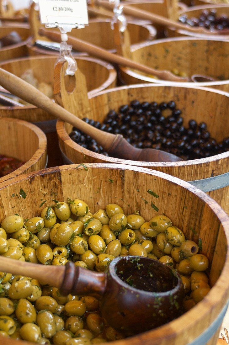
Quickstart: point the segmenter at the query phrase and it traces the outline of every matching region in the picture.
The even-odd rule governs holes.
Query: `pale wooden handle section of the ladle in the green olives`
[[[65,274],[64,266],[46,266],[13,260],[1,255],[0,271],[35,278],[60,288]]]

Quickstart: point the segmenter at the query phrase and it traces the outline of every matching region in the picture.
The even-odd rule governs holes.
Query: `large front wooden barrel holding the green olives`
[[[77,190],[72,188],[79,185]],[[146,204],[142,200],[142,197],[147,197],[149,187],[159,195],[156,201],[160,214],[170,217],[187,238],[195,242],[201,239],[201,253],[209,258],[212,288],[201,302],[179,318],[112,344],[214,345],[229,298],[229,219],[214,200],[187,182],[159,171],[118,164],[45,169],[19,176],[0,186],[0,220],[14,213],[23,218],[38,216],[41,200],[45,198],[47,205],[52,205],[53,195],[60,201],[77,196],[88,204],[92,213],[98,208],[104,209],[109,203],[117,203],[125,214],[137,209],[149,220],[157,214],[150,202]],[[21,188],[26,191],[25,199],[10,197],[19,193]],[[150,200],[150,197],[147,199]],[[192,227],[195,233],[191,231]],[[32,345],[2,336],[0,343]]]

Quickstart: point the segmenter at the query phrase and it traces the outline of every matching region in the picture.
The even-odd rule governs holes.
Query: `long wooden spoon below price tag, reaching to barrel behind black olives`
[[[48,37],[54,42],[61,42],[61,34],[57,31],[50,30],[50,29],[45,30],[41,28],[39,29],[38,32],[40,36]],[[102,49],[96,45],[92,45],[91,43],[80,40],[79,38],[72,37],[70,35],[68,36],[68,43],[73,47],[74,50],[85,51],[92,56],[96,56],[96,57],[99,57],[100,59],[110,61],[111,63],[117,63],[118,65],[134,68],[144,73],[158,76],[162,80],[170,80],[170,81],[177,81],[177,82],[189,81],[188,78],[181,78],[181,77],[175,76],[170,71],[158,71],[151,67],[141,65],[140,63],[135,62],[133,60],[124,58],[120,55],[112,54],[106,49]]]

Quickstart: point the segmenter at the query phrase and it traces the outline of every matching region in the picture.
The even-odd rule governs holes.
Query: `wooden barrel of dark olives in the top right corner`
[[[217,14],[226,14],[229,16],[229,5],[221,5],[221,4],[215,4],[215,5],[201,5],[201,6],[193,6],[190,7],[187,10],[181,11],[180,14],[187,14],[188,18],[192,17],[199,17],[201,14],[202,10],[210,10],[210,9],[216,9]],[[176,30],[173,28],[168,28],[166,30],[166,34],[168,37],[180,37],[180,36],[192,36],[192,37],[197,37],[197,38],[211,38],[211,39],[216,39],[216,40],[222,40],[222,41],[229,41],[229,35],[205,35],[203,33],[195,33],[195,32],[190,32],[188,30]]]

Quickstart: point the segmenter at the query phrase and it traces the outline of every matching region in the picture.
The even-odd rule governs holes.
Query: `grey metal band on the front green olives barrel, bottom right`
[[[212,324],[205,329],[205,331],[197,337],[193,342],[188,343],[187,345],[206,345],[211,337],[216,333],[217,329],[223,322],[223,318],[227,312],[228,303],[223,307],[222,311],[219,313],[217,318],[212,322]]]

